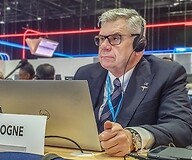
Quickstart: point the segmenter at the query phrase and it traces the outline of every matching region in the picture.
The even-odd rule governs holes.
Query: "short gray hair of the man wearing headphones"
[[[131,34],[139,34],[142,24],[145,26],[145,19],[134,9],[115,8],[104,12],[98,21],[98,26],[102,26],[105,22],[116,21],[118,19],[127,20],[127,29]]]

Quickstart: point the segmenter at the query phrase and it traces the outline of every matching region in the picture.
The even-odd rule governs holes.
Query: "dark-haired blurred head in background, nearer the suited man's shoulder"
[[[55,77],[55,68],[51,64],[44,63],[37,66],[35,79],[54,80],[54,77]]]

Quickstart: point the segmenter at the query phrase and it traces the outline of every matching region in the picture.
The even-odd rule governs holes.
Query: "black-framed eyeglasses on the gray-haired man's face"
[[[119,45],[122,42],[122,36],[132,37],[133,35],[120,35],[120,34],[113,34],[108,36],[97,35],[95,36],[95,45],[100,46],[106,39],[112,46]]]

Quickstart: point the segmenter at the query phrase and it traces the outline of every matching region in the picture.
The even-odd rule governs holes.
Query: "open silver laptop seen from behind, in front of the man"
[[[1,80],[0,106],[3,113],[47,115],[45,145],[78,148],[69,138],[102,151],[87,81]]]

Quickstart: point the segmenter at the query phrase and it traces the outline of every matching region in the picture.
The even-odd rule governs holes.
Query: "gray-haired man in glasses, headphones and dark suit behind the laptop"
[[[145,20],[135,10],[109,10],[99,23],[99,63],[80,67],[74,78],[88,81],[105,152],[124,156],[158,145],[191,144],[192,109],[184,67],[143,55]],[[116,78],[120,84],[114,87]]]

